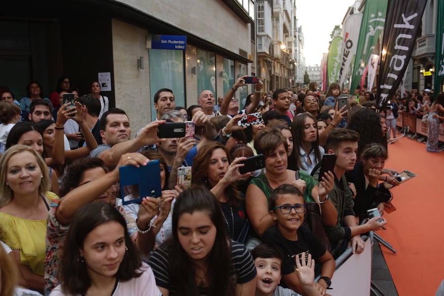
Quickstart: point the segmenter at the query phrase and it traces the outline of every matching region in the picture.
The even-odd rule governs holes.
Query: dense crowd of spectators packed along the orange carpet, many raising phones
[[[63,76],[49,99],[36,81],[20,102],[4,91],[0,294],[328,295],[334,259],[347,247],[362,253],[361,235],[386,224],[367,210],[384,215],[381,183],[398,185],[398,173],[384,167],[398,114],[428,114],[427,148],[435,151],[444,94],[433,104],[427,89],[397,94],[380,113],[374,89],[353,96],[332,84],[324,94],[310,83],[263,94],[259,81],[242,109],[235,93],[245,77],[217,103],[204,90],[187,109],[159,89],[156,119],[133,138],[128,114],[109,108],[97,81],[80,95]],[[239,123],[254,112],[262,120]],[[194,122],[194,137],[158,138],[160,125],[185,121]],[[258,154],[264,168],[241,174]],[[334,168],[319,176],[325,154],[335,155]],[[159,162],[161,196],[120,189],[119,168],[150,161]],[[178,169],[188,166],[185,188]]]

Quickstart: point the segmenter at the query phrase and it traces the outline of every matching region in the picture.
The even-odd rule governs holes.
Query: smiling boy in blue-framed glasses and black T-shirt
[[[321,278],[315,287],[321,293],[331,284],[334,272],[334,259],[316,236],[307,227],[302,226],[305,216],[305,204],[302,192],[293,185],[280,185],[270,196],[270,215],[276,225],[268,228],[263,234],[263,243],[276,246],[284,254],[282,262],[282,280],[288,288],[303,293],[296,275],[296,258],[304,253],[322,263]]]

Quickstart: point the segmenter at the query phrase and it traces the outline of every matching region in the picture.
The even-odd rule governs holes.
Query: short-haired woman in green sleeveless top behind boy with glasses
[[[299,188],[304,194],[305,201],[320,204],[324,223],[336,224],[336,209],[327,198],[327,194],[334,185],[331,172],[322,177],[318,186],[316,181],[305,172],[287,169],[287,141],[278,129],[260,132],[255,147],[258,153],[265,157],[266,172],[250,182],[245,204],[257,236],[261,237],[265,230],[274,225],[269,214],[269,198],[273,189],[283,184],[292,184]]]

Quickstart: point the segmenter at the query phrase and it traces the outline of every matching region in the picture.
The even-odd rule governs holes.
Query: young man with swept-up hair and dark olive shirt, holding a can
[[[352,245],[353,253],[362,253],[364,251],[364,241],[361,234],[380,229],[387,222],[382,218],[382,222],[377,220],[380,217],[370,219],[363,225],[358,225],[355,213],[353,212],[354,202],[353,193],[348,187],[345,172],[353,170],[358,151],[359,134],[354,130],[344,128],[335,128],[326,140],[327,153],[336,155],[333,172],[334,187],[330,191],[328,198],[332,201],[337,210],[337,222],[334,226],[324,226],[325,232],[329,237],[332,249],[348,241]],[[314,173],[313,178],[318,180],[320,168]],[[345,251],[346,245],[339,248],[339,253]]]

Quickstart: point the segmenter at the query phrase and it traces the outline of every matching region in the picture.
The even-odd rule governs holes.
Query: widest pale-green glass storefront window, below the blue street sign
[[[157,115],[154,94],[161,88],[174,93],[176,106],[185,107],[184,57],[182,50],[148,49],[151,119]]]

